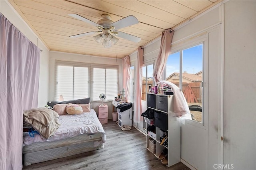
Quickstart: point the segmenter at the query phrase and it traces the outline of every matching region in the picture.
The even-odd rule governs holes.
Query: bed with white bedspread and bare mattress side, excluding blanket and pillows
[[[60,115],[60,127],[49,138],[23,132],[23,164],[30,165],[103,148],[104,129],[94,109],[81,115]]]

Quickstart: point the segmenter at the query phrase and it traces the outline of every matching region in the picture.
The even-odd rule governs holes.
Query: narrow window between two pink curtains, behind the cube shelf
[[[145,65],[142,67],[142,97],[146,101],[146,93],[148,92],[149,85],[153,85],[153,64]]]

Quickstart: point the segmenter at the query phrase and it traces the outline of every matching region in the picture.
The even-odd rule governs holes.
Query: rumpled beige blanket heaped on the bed
[[[58,113],[46,108],[34,108],[23,112],[23,126],[32,126],[40,135],[48,139],[60,127]]]

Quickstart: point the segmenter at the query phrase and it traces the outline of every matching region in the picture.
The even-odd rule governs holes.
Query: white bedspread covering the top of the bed
[[[90,112],[82,113],[81,115],[60,115],[59,123],[61,124],[60,127],[56,130],[54,135],[47,140],[41,138],[39,134],[30,137],[28,132],[23,132],[24,144],[29,145],[34,142],[51,142],[88,133],[101,133],[101,140],[99,142],[106,142],[105,131],[93,109],[91,109]]]

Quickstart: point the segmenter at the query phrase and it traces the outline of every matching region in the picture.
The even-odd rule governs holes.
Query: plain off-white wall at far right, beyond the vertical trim
[[[256,1],[224,4],[224,164],[256,169]]]

